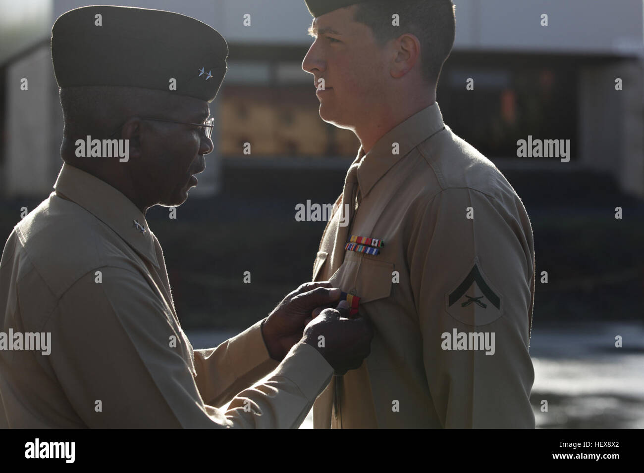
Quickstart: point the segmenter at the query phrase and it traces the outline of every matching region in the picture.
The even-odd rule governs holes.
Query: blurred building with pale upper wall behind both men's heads
[[[455,0],[455,48],[438,102],[450,127],[500,168],[591,169],[644,197],[644,2]],[[46,196],[61,161],[62,117],[49,39],[71,0],[3,0],[0,11],[0,177],[5,196]],[[322,122],[312,39],[299,0],[124,1],[210,24],[229,42],[229,71],[211,104],[215,151],[196,195],[220,186],[222,162],[261,167],[352,158],[355,136]],[[547,15],[547,26],[542,26]],[[249,15],[249,16],[245,16]],[[249,24],[250,23],[250,24]],[[171,32],[169,32],[171,34]],[[21,79],[28,91],[21,91]],[[474,90],[466,88],[473,79]],[[621,79],[621,90],[616,80]],[[571,140],[571,161],[517,158],[516,142]],[[251,144],[251,154],[243,153]],[[213,156],[214,155],[214,156]],[[294,159],[299,158],[299,159]],[[346,167],[345,160],[338,162]]]

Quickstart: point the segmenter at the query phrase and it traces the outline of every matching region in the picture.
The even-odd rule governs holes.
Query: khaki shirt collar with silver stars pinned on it
[[[119,190],[68,163],[63,163],[53,188],[108,225],[156,268],[160,267],[146,217]]]

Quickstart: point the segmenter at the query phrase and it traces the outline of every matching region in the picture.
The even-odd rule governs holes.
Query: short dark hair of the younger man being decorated
[[[399,15],[400,26],[393,26],[393,14]],[[421,43],[422,77],[437,84],[440,71],[454,46],[456,32],[455,6],[451,0],[376,0],[358,3],[354,21],[366,24],[377,42],[412,33]]]

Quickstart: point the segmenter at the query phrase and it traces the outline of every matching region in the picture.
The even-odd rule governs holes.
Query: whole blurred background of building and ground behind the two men
[[[446,124],[497,165],[531,218],[537,425],[644,427],[644,2],[454,3],[456,42],[437,97]],[[33,210],[48,196],[61,167],[51,28],[84,5],[0,0],[5,237],[23,207]],[[310,281],[325,222],[298,222],[295,207],[333,203],[359,144],[317,114],[312,76],[301,70],[312,41],[303,1],[111,5],[190,15],[229,42],[228,73],[211,104],[215,149],[199,187],[176,219],[162,207],[147,213],[182,326],[195,348],[216,346]],[[542,14],[548,26],[540,26]],[[516,142],[528,135],[571,140],[570,162],[517,158]],[[542,271],[547,283],[539,281]],[[310,426],[309,416],[303,427]]]

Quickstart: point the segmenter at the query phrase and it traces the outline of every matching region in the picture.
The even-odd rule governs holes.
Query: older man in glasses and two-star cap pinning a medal
[[[311,321],[339,300],[328,283],[217,348],[182,331],[145,214],[183,203],[204,170],[226,56],[213,28],[170,12],[90,6],[54,24],[64,164],[0,263],[0,425],[297,427],[368,354],[365,320]]]

